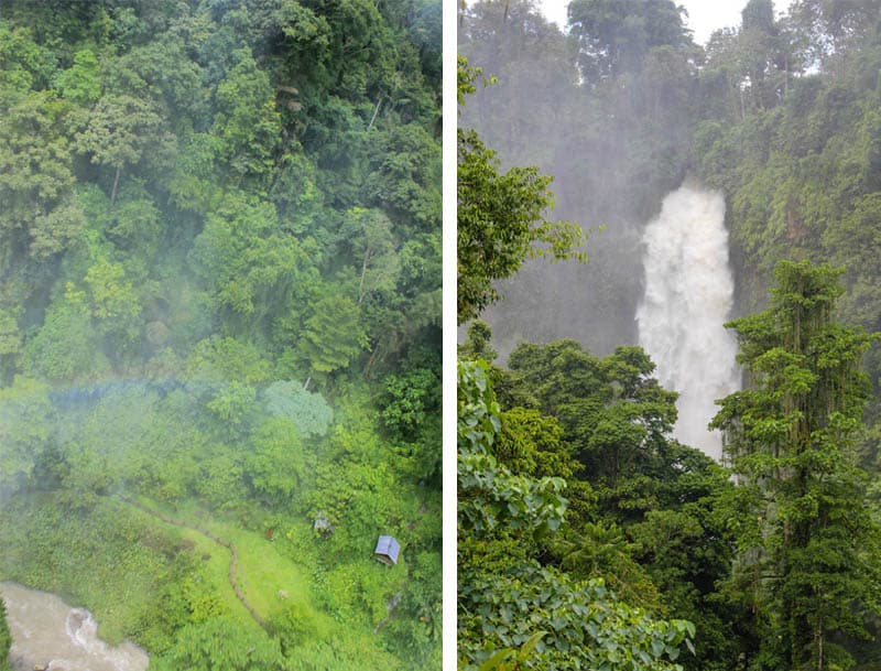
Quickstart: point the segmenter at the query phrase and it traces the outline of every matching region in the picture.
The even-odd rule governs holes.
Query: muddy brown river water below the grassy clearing
[[[132,643],[116,648],[97,636],[88,610],[70,608],[59,597],[0,583],[12,632],[10,661],[15,671],[143,671],[146,652]]]

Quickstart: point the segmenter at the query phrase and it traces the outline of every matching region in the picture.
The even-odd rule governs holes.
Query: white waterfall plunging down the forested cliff
[[[643,235],[645,295],[637,311],[639,342],[657,379],[679,392],[675,437],[721,459],[721,435],[707,429],[715,400],[740,386],[730,318],[735,282],[728,264],[725,199],[684,184],[668,194]]]

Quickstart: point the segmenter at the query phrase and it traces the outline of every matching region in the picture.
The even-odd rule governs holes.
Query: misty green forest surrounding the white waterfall
[[[459,522],[480,534],[460,544],[460,664],[877,668],[881,4],[750,0],[706,45],[667,0],[574,0],[565,32],[529,1],[460,20],[497,80],[460,126],[500,170],[553,175],[548,219],[606,227],[589,263],[494,284],[460,345]],[[686,180],[724,194],[731,316],[753,313],[729,324],[746,375],[714,421],[726,468],[671,437],[676,394],[632,346],[642,231]],[[534,582],[566,613],[611,594],[654,624],[616,620],[621,657],[573,661],[609,639]],[[670,657],[640,652],[678,620],[694,635]]]

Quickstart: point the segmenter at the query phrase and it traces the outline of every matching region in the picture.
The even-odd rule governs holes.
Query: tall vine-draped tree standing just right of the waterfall
[[[736,578],[758,615],[757,668],[846,668],[841,641],[867,636],[881,605],[879,528],[853,455],[871,337],[833,320],[840,274],[781,262],[771,306],[728,324],[750,385],[711,425],[746,501]]]

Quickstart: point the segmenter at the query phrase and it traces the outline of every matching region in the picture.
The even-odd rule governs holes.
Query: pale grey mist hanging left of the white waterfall
[[[600,355],[637,344],[642,230],[688,171],[690,115],[677,82],[586,83],[572,41],[529,2],[511,3],[507,21],[496,3],[475,4],[459,34],[460,53],[498,78],[466,99],[459,125],[481,134],[502,169],[552,175],[551,218],[592,231],[587,264],[531,261],[498,283],[504,297],[481,316],[494,347],[504,359],[520,340],[569,337]],[[665,57],[686,63],[688,53]]]

